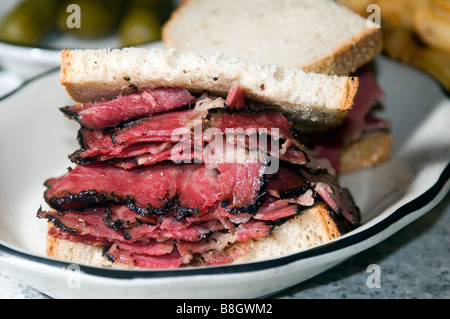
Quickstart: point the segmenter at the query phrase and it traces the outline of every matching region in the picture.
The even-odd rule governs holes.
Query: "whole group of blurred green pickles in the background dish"
[[[68,26],[71,4],[80,28]],[[0,40],[33,46],[48,32],[94,39],[116,32],[120,46],[139,45],[160,40],[172,10],[169,0],[21,0],[0,21]]]

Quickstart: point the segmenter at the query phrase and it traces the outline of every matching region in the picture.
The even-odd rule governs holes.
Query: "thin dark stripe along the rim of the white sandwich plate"
[[[51,69],[47,72],[44,72],[32,79],[24,82],[19,88],[8,93],[5,96],[0,97],[0,101],[6,99],[11,96],[28,83],[35,81],[38,78],[44,77],[48,74],[51,74],[55,71],[59,70],[58,68]],[[443,90],[446,95],[449,94]],[[228,273],[245,273],[245,272],[254,272],[267,270],[270,268],[277,268],[281,266],[285,266],[295,261],[299,261],[301,259],[307,259],[312,257],[317,257],[319,255],[324,255],[327,253],[335,252],[352,245],[356,245],[364,240],[367,240],[391,225],[395,224],[399,220],[404,217],[412,214],[430,204],[435,198],[440,195],[441,191],[444,190],[446,184],[450,180],[450,161],[447,163],[443,171],[441,172],[436,183],[431,186],[427,191],[417,196],[415,199],[405,203],[394,212],[389,214],[387,217],[379,221],[378,223],[364,229],[360,232],[356,232],[353,235],[349,235],[348,237],[340,238],[336,241],[326,243],[317,247],[309,248],[304,251],[300,251],[298,253],[294,253],[288,256],[278,257],[276,259],[257,261],[252,263],[243,263],[243,264],[234,264],[234,265],[223,265],[223,266],[207,266],[207,267],[198,267],[198,268],[178,268],[178,269],[155,269],[155,270],[120,270],[120,269],[108,269],[108,268],[99,268],[92,267],[87,265],[79,265],[80,270],[87,275],[93,275],[98,277],[105,278],[114,278],[114,279],[151,279],[151,278],[164,278],[164,277],[181,277],[181,276],[195,276],[195,275],[220,275],[220,274],[228,274]],[[445,194],[443,194],[445,196]],[[0,254],[6,256],[18,257],[21,259],[26,259],[29,262],[35,262],[42,265],[47,265],[51,267],[58,268],[67,268],[69,265],[73,263],[50,259],[43,256],[31,255],[25,252],[21,252],[12,248],[9,248],[3,244],[0,244]]]

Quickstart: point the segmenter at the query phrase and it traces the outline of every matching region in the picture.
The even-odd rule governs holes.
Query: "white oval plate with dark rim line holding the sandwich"
[[[307,280],[368,249],[434,207],[450,188],[450,100],[423,73],[376,60],[393,121],[392,160],[342,177],[362,226],[327,244],[241,265],[176,270],[111,270],[45,257],[43,182],[71,166],[78,124],[58,107],[72,101],[49,72],[0,101],[0,263],[57,298],[254,298]]]

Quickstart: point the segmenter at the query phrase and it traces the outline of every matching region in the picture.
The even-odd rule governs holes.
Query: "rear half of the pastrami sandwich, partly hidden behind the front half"
[[[382,50],[382,33],[346,7],[330,0],[185,0],[164,26],[163,42],[177,50],[358,76],[355,104],[343,125],[302,140],[339,172],[390,158],[390,123],[374,112],[385,94],[368,67]],[[301,124],[299,129],[304,132]]]

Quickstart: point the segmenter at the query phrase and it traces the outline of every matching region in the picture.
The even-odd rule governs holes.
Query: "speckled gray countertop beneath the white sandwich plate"
[[[376,265],[376,271],[368,270],[369,265]],[[375,274],[379,275],[377,280]],[[450,194],[380,244],[272,297],[450,298]],[[0,266],[2,298],[48,297],[11,277]]]

